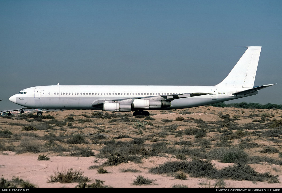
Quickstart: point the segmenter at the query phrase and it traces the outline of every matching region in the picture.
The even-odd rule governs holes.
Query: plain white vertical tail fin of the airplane
[[[228,74],[228,76],[215,86],[232,86],[253,88],[261,46],[248,46],[243,56]]]

